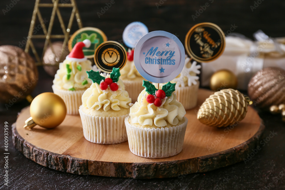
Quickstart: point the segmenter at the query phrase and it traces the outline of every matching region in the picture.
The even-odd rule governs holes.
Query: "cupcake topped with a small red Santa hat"
[[[78,109],[82,105],[81,97],[92,83],[86,73],[92,69],[91,62],[82,52],[82,48],[89,47],[90,44],[90,40],[75,44],[64,62],[59,64],[59,69],[54,76],[52,90],[63,99],[67,114],[79,114]]]

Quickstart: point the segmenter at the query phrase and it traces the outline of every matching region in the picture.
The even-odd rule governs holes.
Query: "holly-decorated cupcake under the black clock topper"
[[[125,90],[118,68],[104,76],[93,70],[87,72],[93,81],[82,95],[79,108],[86,140],[98,144],[127,141],[125,118],[129,116],[131,98]]]

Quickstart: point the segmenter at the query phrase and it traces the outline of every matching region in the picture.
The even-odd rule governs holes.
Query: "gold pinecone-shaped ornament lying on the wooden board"
[[[197,119],[208,126],[226,127],[238,124],[247,114],[248,100],[234,89],[215,92],[201,105]]]

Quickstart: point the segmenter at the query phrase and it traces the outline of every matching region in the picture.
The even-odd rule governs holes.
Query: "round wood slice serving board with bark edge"
[[[142,158],[129,150],[128,142],[104,145],[87,141],[80,116],[67,115],[54,129],[35,126],[23,128],[30,117],[23,109],[13,124],[13,144],[27,158],[59,171],[82,175],[111,177],[163,178],[205,172],[240,162],[258,144],[264,125],[249,107],[247,116],[237,126],[213,128],[201,124],[196,112],[211,95],[200,89],[197,107],[188,110],[184,146],[176,156],[162,159]]]

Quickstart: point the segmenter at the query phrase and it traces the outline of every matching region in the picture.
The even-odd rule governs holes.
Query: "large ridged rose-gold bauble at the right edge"
[[[248,94],[257,107],[268,109],[285,103],[285,70],[268,67],[257,71],[248,84]]]

